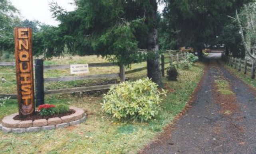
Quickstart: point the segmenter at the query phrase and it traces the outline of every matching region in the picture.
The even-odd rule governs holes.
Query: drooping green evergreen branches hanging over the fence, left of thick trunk
[[[61,22],[58,36],[71,54],[101,55],[129,66],[143,60],[138,48],[153,50],[147,60],[148,76],[162,87],[157,43],[158,2],[75,0],[77,10],[66,12],[53,3],[52,12]]]

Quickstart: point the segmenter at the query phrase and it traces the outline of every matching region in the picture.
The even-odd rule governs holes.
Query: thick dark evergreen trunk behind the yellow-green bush
[[[154,51],[153,54],[147,59],[147,76],[152,79],[153,82],[158,84],[159,88],[163,88],[163,82],[161,78],[160,62],[159,62],[159,46],[157,42],[157,2],[156,0],[150,0],[149,10],[147,10],[146,22],[149,26],[149,33],[147,36],[147,49]]]

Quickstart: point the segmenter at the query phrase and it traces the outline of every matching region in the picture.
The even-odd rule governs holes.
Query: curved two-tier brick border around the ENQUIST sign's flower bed
[[[0,123],[0,130],[4,133],[38,132],[74,126],[85,121],[86,114],[83,109],[77,107],[69,107],[69,109],[75,110],[75,113],[60,118],[39,119],[35,121],[14,120],[13,118],[18,115],[18,113],[14,113],[4,117],[2,124]]]

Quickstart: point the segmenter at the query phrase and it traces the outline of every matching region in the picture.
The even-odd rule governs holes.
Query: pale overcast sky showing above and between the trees
[[[57,2],[67,11],[72,11],[75,6],[69,4],[73,0],[10,0],[12,4],[20,10],[22,19],[38,20],[49,25],[58,25],[58,21],[52,18],[49,2]],[[163,6],[159,6],[159,11]]]

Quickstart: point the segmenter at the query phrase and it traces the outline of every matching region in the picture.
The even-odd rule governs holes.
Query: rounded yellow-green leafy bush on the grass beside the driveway
[[[149,78],[135,82],[123,82],[118,86],[112,86],[101,104],[103,111],[113,118],[122,120],[149,121],[155,117],[159,110],[160,97],[166,92],[160,92],[157,84]]]

